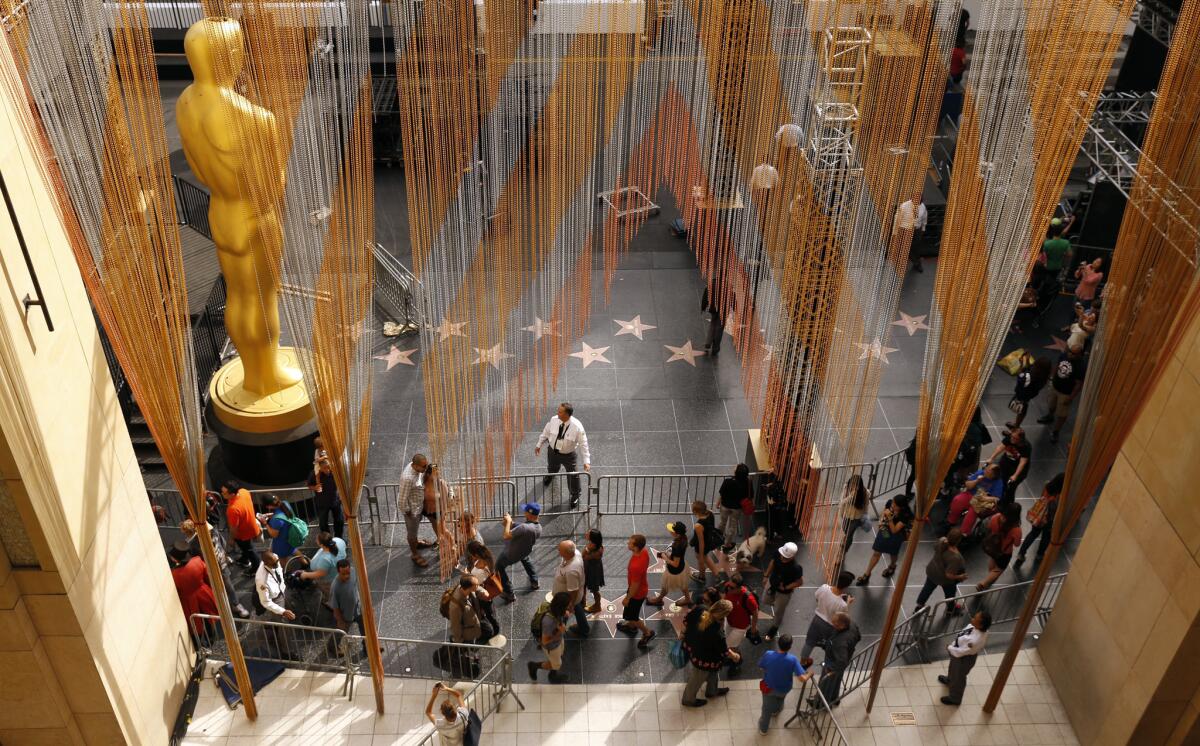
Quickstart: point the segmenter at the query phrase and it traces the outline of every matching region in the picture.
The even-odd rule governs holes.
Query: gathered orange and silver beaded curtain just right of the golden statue
[[[210,2],[210,5],[216,5]],[[221,4],[226,5],[226,4]],[[246,169],[241,191],[280,216],[280,301],[324,449],[347,516],[358,570],[364,633],[376,703],[383,711],[383,666],[367,586],[358,515],[371,432],[371,309],[374,173],[371,154],[370,19],[366,0],[244,0],[192,32],[245,40],[216,56],[220,79],[238,79],[274,115],[271,128],[247,130],[236,148],[247,163],[286,175],[283,189]],[[239,53],[245,54],[245,65]],[[227,116],[240,106],[226,98]],[[253,134],[252,134],[253,133]]]

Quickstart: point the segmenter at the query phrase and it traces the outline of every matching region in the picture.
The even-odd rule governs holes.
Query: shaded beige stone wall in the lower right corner
[[[1200,742],[1200,320],[1126,441],[1040,652],[1082,744]]]

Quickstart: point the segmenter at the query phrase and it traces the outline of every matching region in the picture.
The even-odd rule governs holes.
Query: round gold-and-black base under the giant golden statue
[[[280,348],[281,362],[299,368],[296,353]],[[227,362],[209,384],[205,421],[217,437],[226,467],[254,485],[289,485],[312,471],[317,420],[304,383],[259,396],[242,386],[241,359]]]

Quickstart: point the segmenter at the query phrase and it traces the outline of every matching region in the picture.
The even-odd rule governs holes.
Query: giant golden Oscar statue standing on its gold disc
[[[187,163],[211,192],[209,225],[226,279],[226,329],[239,354],[212,378],[210,402],[235,440],[263,446],[263,438],[236,433],[288,439],[313,417],[296,353],[280,347],[283,234],[275,205],[287,154],[275,115],[234,88],[245,61],[238,22],[200,20],[187,30],[184,50],[194,82],[179,97],[175,118]]]

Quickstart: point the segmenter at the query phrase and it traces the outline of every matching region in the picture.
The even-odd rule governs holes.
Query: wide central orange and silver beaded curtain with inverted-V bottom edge
[[[958,4],[536,7],[392,5],[437,458],[506,468],[660,186],[793,491],[857,458]]]

